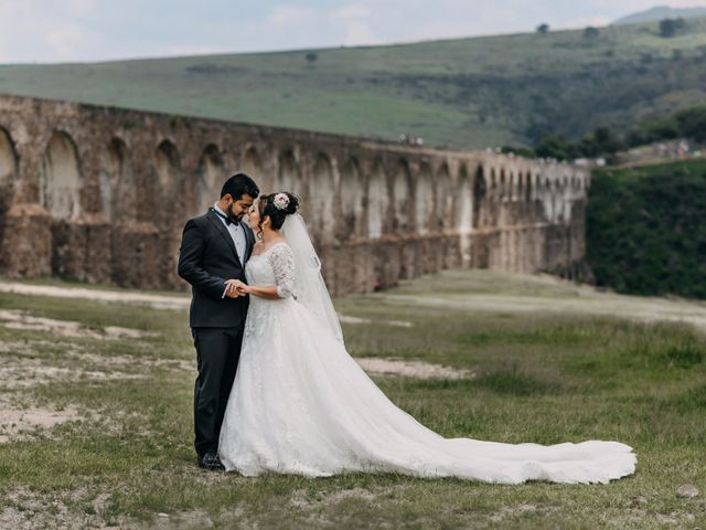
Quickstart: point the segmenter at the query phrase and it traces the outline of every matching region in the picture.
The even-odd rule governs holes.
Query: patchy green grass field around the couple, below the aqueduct
[[[0,427],[0,528],[706,526],[706,305],[451,271],[336,307],[371,320],[344,326],[357,358],[473,374],[374,375],[445,436],[618,439],[635,448],[637,474],[603,486],[499,486],[202,471],[191,444],[194,353],[184,311],[1,294],[0,417],[24,410],[54,423]],[[84,326],[61,335],[38,324],[53,320],[8,320],[13,311]],[[108,326],[146,335],[101,336]],[[682,485],[702,494],[680,498]]]

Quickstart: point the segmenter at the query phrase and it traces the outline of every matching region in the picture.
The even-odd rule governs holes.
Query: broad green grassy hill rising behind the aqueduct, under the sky
[[[315,53],[315,61],[307,61]],[[0,66],[0,93],[428,145],[530,145],[706,100],[706,19],[281,53]]]

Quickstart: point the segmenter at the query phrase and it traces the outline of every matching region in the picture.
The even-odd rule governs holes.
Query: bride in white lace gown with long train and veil
[[[290,193],[249,212],[260,237],[246,265],[243,349],[221,430],[227,470],[325,477],[342,471],[488,483],[608,483],[634,471],[618,442],[504,444],[443,438],[402,411],[343,344],[320,262]]]

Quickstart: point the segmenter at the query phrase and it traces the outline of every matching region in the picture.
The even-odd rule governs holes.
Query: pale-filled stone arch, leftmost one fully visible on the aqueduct
[[[46,145],[40,170],[40,203],[54,219],[81,215],[81,166],[74,140],[55,131]]]

